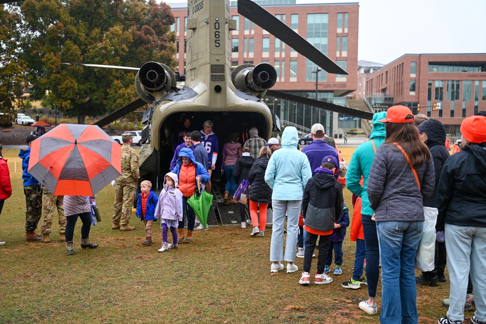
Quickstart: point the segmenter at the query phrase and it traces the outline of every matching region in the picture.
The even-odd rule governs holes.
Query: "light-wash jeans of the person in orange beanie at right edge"
[[[464,321],[464,301],[470,271],[476,306],[474,315],[480,322],[486,322],[486,228],[446,224],[445,235],[450,279],[447,317],[451,321]]]

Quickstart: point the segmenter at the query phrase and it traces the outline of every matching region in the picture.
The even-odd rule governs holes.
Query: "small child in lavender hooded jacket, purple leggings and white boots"
[[[162,248],[159,252],[164,252],[169,248],[178,248],[177,227],[182,221],[182,192],[178,187],[178,177],[176,173],[167,172],[159,202],[155,208],[155,217],[161,219],[162,229]],[[167,243],[167,232],[170,228],[172,233],[172,243]]]

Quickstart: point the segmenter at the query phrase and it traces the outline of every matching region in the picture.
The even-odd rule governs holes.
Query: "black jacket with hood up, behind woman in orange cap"
[[[425,144],[429,148],[432,155],[433,166],[435,170],[435,188],[439,183],[439,176],[442,167],[450,157],[449,151],[446,149],[446,128],[437,119],[429,119],[418,126],[418,129],[427,134],[427,142]],[[431,196],[424,196],[425,207],[435,207],[436,191]]]

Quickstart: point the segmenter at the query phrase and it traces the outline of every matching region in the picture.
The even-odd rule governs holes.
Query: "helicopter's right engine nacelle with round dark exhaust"
[[[236,89],[261,98],[277,81],[277,72],[267,63],[243,64],[233,70],[231,80]]]

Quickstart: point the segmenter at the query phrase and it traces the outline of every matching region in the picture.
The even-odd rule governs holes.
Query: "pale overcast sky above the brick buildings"
[[[486,53],[486,0],[297,0],[343,2],[360,4],[360,60],[388,64],[404,54]]]

